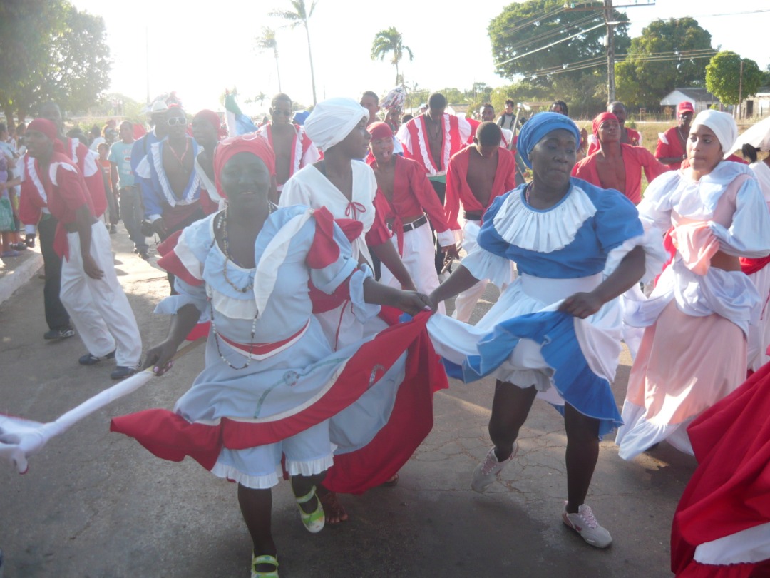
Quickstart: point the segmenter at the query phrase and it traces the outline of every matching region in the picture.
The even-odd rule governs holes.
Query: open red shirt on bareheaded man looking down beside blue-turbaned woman
[[[468,155],[473,150],[467,146],[455,154],[449,161],[447,170],[447,197],[444,200],[444,213],[452,230],[460,229],[457,217],[460,215],[460,202],[467,211],[483,213],[495,197],[516,188],[516,160],[514,155],[502,146],[497,148],[497,172],[494,174],[492,191],[487,207],[482,207],[479,200],[470,190],[467,181]]]

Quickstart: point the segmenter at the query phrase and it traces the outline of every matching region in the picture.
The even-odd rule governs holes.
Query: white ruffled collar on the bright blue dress
[[[507,243],[538,253],[552,253],[574,240],[577,231],[596,213],[588,194],[572,184],[553,207],[537,210],[524,200],[522,185],[505,197],[494,216],[494,228]]]

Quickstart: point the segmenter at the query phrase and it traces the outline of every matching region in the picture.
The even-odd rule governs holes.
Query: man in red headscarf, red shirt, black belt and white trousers
[[[383,212],[391,240],[414,281],[417,291],[430,293],[439,285],[432,267],[433,239],[427,223],[436,230],[438,243],[448,259],[458,257],[454,234],[444,217],[444,207],[427,180],[419,163],[393,154],[393,133],[387,123],[373,123],[367,128],[372,135],[369,161],[377,178],[377,212]],[[427,215],[426,215],[427,213]],[[396,277],[382,267],[380,282],[400,288]],[[440,311],[443,313],[443,311]]]

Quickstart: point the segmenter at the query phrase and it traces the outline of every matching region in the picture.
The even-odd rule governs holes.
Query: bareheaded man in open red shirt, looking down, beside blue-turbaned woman
[[[484,122],[478,126],[474,144],[452,156],[447,170],[447,202],[444,210],[452,230],[460,230],[457,217],[463,205],[465,227],[463,248],[470,252],[476,246],[481,217],[495,197],[514,189],[516,163],[511,152],[500,146],[500,126]],[[454,301],[452,317],[467,322],[487,280],[479,281],[463,291]]]

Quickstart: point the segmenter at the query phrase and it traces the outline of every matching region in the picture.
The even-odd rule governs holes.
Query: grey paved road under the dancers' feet
[[[166,293],[165,275],[130,253],[122,227],[113,247],[147,348],[166,332],[167,321],[151,314]],[[0,304],[0,412],[48,421],[109,385],[111,366],[78,365],[85,352],[78,338],[45,342],[44,331],[42,281],[33,276]],[[248,576],[235,486],[192,460],[164,462],[108,432],[113,415],[170,408],[202,356],[196,351],[54,439],[25,476],[0,464],[4,578]],[[614,384],[618,404],[628,364],[625,355]],[[306,533],[289,486],[280,484],[273,526],[281,576],[671,576],[671,516],[695,460],[661,444],[624,462],[611,439],[602,442],[588,502],[614,543],[592,549],[561,523],[564,428],[549,405],[535,403],[520,457],[502,481],[485,494],[470,490],[470,473],[490,445],[492,387],[454,381],[438,393],[434,430],[399,485],[343,496],[350,521],[339,528]]]

